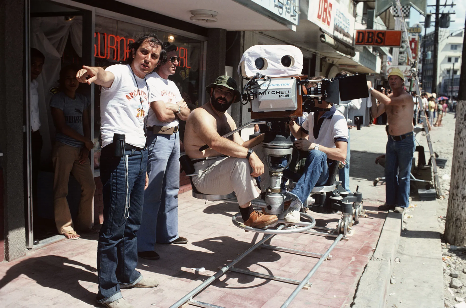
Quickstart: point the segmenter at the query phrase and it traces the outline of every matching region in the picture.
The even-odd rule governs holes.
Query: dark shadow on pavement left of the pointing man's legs
[[[87,264],[56,255],[29,258],[8,269],[0,280],[0,289],[20,275],[26,275],[42,287],[62,291],[95,306],[96,294],[83,287],[79,281],[97,283],[96,271],[96,268]],[[63,283],[64,280],[66,283]]]

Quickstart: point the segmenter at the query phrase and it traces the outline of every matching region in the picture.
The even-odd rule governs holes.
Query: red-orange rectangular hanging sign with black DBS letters
[[[356,46],[401,46],[399,30],[356,30],[354,39]]]

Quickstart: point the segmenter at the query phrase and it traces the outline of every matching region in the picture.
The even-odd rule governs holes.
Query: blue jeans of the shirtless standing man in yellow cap
[[[414,153],[414,135],[394,141],[388,137],[385,153],[385,203],[409,206],[411,164]],[[399,172],[398,172],[399,169]]]

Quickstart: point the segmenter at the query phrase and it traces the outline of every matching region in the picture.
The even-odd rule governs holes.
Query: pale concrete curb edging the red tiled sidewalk
[[[359,279],[352,308],[385,307],[391,270],[400,240],[402,221],[402,213],[388,213],[376,251]]]

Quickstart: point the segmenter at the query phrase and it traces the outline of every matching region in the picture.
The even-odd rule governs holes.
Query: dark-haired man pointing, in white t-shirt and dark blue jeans
[[[109,308],[133,307],[123,299],[120,288],[158,286],[155,279],[144,279],[135,269],[136,234],[148,184],[144,130],[151,89],[145,76],[166,55],[155,34],[143,34],[128,47],[130,64],[105,70],[83,66],[76,74],[80,82],[102,86],[103,225],[97,246],[97,302]]]

